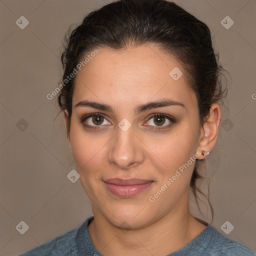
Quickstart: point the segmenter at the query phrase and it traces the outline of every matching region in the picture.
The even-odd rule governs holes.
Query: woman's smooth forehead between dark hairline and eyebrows
[[[73,105],[90,99],[121,106],[126,101],[139,104],[162,97],[182,100],[185,105],[196,104],[181,63],[157,46],[97,49],[98,53],[76,75]]]

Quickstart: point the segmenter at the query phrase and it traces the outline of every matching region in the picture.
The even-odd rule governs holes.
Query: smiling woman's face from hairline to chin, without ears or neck
[[[200,150],[197,100],[185,70],[153,44],[98,50],[76,76],[69,133],[94,214],[139,228],[184,212]],[[158,101],[179,103],[150,103]],[[120,181],[131,178],[142,181]]]

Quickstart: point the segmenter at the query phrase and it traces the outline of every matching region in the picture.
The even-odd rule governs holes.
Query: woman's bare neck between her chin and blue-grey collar
[[[185,246],[205,228],[184,208],[170,211],[139,229],[116,227],[96,209],[93,213],[88,232],[103,255],[167,255]]]

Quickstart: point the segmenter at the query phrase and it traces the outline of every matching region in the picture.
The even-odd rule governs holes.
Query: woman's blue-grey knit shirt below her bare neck
[[[18,256],[103,256],[93,245],[87,226],[93,216],[80,227],[69,230],[52,240]],[[256,256],[245,245],[231,240],[208,225],[194,239],[167,256]]]

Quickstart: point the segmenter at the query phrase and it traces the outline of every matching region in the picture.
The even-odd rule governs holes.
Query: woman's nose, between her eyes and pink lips
[[[144,160],[142,145],[143,143],[135,135],[132,127],[126,131],[118,128],[116,135],[111,139],[108,161],[122,169],[141,164]]]

